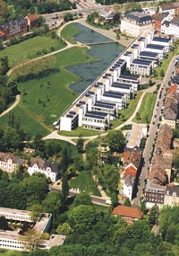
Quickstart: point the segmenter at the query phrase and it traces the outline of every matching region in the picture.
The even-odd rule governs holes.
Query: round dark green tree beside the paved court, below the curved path
[[[107,142],[111,152],[123,152],[125,146],[125,138],[121,130],[108,132]]]

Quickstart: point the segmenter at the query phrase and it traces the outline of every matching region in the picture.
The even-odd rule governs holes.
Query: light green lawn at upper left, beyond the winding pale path
[[[1,57],[7,56],[9,66],[14,66],[24,60],[38,57],[38,52],[51,52],[52,48],[54,51],[63,49],[64,46],[64,42],[62,43],[60,39],[52,39],[50,36],[37,36],[1,50]]]

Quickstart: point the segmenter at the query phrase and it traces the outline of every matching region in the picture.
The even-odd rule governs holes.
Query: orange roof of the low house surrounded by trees
[[[139,218],[141,219],[143,213],[140,209],[134,207],[117,206],[114,208],[112,215],[119,215],[125,217]]]

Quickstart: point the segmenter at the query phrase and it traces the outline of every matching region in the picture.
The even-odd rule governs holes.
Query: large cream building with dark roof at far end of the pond
[[[143,31],[152,31],[152,18],[149,14],[133,12],[125,13],[121,20],[121,31],[127,35],[137,37]]]

